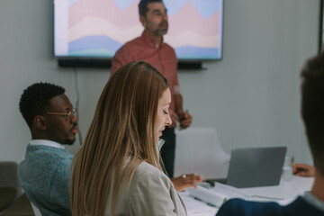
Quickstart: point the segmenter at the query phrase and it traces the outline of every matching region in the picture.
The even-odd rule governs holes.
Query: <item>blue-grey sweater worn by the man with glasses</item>
[[[66,149],[28,145],[19,181],[42,215],[70,215],[68,178],[73,155]]]

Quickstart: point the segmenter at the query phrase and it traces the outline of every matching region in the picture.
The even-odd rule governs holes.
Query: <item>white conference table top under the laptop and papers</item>
[[[246,193],[248,200],[258,202],[278,202],[282,205],[292,202],[298,195],[311,190],[313,177],[293,175],[291,181],[280,181],[279,185],[236,189]],[[214,188],[215,189],[215,188]],[[213,190],[212,188],[209,190]],[[180,193],[189,216],[214,216],[219,210],[216,206],[194,198],[188,191]]]

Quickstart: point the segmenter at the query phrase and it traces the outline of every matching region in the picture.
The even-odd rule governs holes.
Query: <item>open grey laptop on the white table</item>
[[[286,147],[236,148],[231,151],[226,179],[209,179],[238,188],[278,185]]]

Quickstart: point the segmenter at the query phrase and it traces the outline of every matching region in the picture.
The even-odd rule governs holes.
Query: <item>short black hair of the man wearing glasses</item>
[[[41,82],[30,85],[23,90],[19,110],[30,129],[33,118],[49,108],[49,100],[64,93],[65,89],[61,86]]]

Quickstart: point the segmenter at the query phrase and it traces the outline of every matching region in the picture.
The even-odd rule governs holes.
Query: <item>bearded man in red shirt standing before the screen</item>
[[[163,131],[161,139],[165,144],[161,148],[161,157],[170,177],[174,175],[175,164],[175,126],[181,129],[190,126],[193,117],[184,112],[183,97],[177,76],[177,58],[175,50],[163,42],[163,36],[168,29],[166,6],[162,0],[141,0],[139,2],[139,21],[144,27],[141,36],[130,40],[119,49],[112,58],[112,74],[122,65],[143,60],[156,67],[166,77],[170,85],[172,103],[169,108],[172,125]]]

